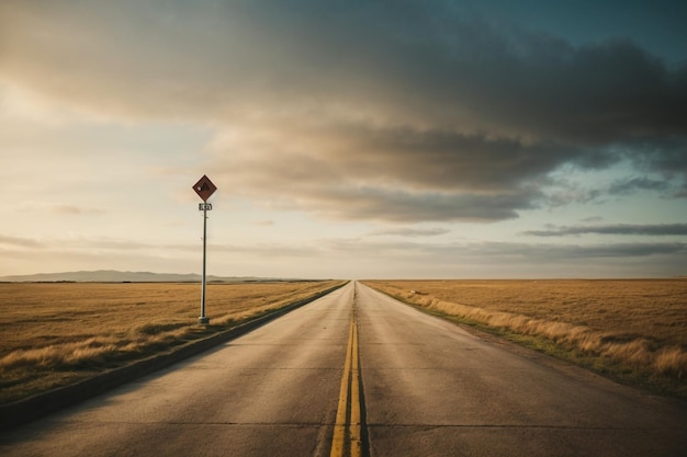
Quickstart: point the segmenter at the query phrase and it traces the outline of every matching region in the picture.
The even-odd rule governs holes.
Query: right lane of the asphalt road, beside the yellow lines
[[[372,456],[687,456],[685,403],[357,298]]]

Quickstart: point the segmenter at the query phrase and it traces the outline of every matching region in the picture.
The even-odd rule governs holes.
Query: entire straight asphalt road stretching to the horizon
[[[337,420],[352,427],[357,409],[361,453],[372,457],[687,455],[684,402],[514,347],[350,283],[211,352],[5,431],[0,455],[340,455]]]

